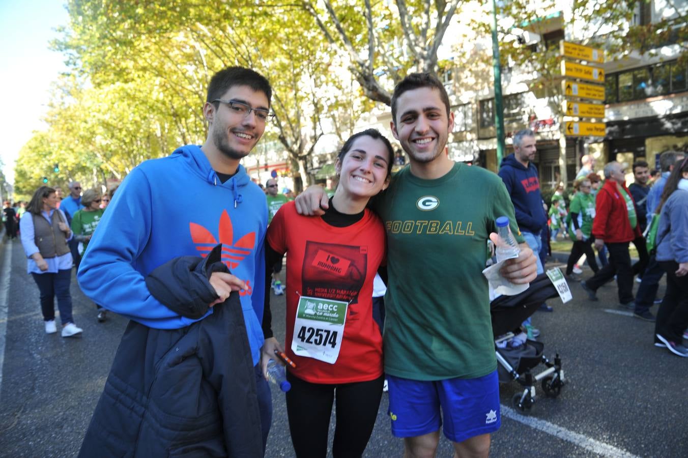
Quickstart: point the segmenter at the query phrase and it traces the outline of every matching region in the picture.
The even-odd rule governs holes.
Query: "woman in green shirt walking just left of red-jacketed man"
[[[588,265],[593,272],[597,273],[599,267],[595,261],[595,252],[592,250],[592,220],[595,217],[595,198],[591,193],[592,184],[590,179],[577,179],[573,184],[576,193],[571,199],[568,207],[570,224],[568,225],[568,235],[573,241],[571,254],[566,263],[566,279],[571,281],[581,281],[579,276],[573,273],[573,266],[585,254]]]

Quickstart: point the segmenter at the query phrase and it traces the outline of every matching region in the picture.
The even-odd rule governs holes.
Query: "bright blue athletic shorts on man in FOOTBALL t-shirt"
[[[454,442],[493,433],[502,424],[499,415],[499,379],[495,370],[483,377],[431,382],[387,375],[389,417],[395,437],[416,437],[442,426]],[[440,408],[442,416],[440,417]]]

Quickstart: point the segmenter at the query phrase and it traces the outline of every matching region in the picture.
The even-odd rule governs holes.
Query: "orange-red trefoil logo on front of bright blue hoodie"
[[[248,232],[236,242],[234,241],[234,228],[227,210],[224,210],[219,218],[219,227],[217,228],[219,242],[209,230],[200,224],[189,223],[189,230],[191,231],[191,240],[195,243],[196,250],[200,251],[202,257],[208,256],[208,253],[217,243],[222,243],[222,262],[230,269],[236,268],[255,248],[255,232]]]

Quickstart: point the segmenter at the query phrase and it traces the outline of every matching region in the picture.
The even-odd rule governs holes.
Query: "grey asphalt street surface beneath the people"
[[[73,457],[127,320],[111,316],[98,324],[95,306],[73,279],[74,318],[83,337],[46,335],[38,289],[25,264],[19,241],[0,246],[0,456]],[[557,399],[544,397],[538,386],[527,415],[510,406],[518,384],[503,384],[502,428],[493,435],[492,456],[688,456],[688,360],[652,345],[654,325],[617,307],[614,283],[599,290],[598,303],[585,301],[581,287],[571,286],[573,301],[551,300],[555,312],[533,318],[546,355],[561,355],[568,384]],[[283,305],[283,296],[273,296],[273,323],[282,340]],[[273,390],[272,398],[266,456],[292,457],[283,395]],[[365,456],[401,455],[383,395]],[[442,439],[438,456],[451,455]]]

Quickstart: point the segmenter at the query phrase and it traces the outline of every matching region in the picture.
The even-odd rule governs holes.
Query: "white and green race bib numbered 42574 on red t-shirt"
[[[294,322],[292,351],[334,364],[339,357],[348,303],[301,296]]]

